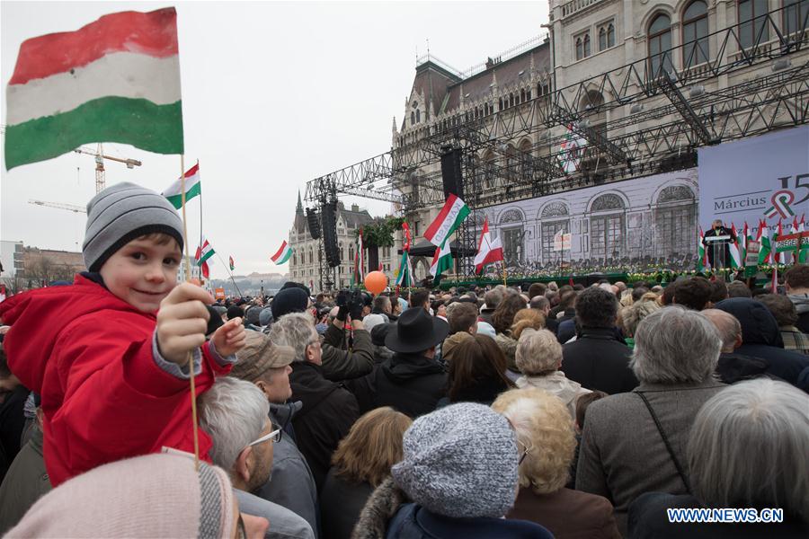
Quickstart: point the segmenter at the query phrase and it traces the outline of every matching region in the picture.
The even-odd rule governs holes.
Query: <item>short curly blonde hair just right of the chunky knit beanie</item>
[[[528,450],[520,464],[520,486],[537,494],[563,488],[576,447],[573,420],[565,403],[530,387],[501,393],[492,409],[511,422],[520,451]]]

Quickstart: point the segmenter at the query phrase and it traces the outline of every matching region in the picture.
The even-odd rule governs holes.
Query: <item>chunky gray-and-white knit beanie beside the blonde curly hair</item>
[[[502,517],[517,496],[517,438],[488,406],[460,402],[413,421],[391,469],[410,499],[446,517]]]

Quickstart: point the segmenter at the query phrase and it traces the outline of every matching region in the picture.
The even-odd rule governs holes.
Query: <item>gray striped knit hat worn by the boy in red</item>
[[[87,203],[84,265],[89,271],[101,270],[121,247],[157,232],[172,236],[182,251],[182,220],[168,199],[126,181],[111,185]]]

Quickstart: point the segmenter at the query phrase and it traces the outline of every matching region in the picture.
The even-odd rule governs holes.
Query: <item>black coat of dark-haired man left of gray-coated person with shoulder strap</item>
[[[610,328],[582,328],[578,339],[562,347],[562,372],[590,390],[608,394],[626,393],[636,388],[637,378],[629,368],[632,354],[616,340]]]

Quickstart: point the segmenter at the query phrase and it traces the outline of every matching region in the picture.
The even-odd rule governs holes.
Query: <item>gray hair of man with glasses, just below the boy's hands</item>
[[[200,395],[200,427],[210,435],[214,464],[232,471],[236,458],[261,436],[270,402],[255,384],[233,376],[220,376]]]

